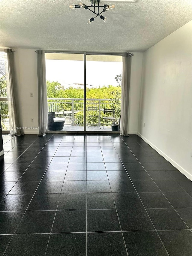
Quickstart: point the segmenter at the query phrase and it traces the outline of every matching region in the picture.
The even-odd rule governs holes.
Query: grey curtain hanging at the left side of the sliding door
[[[45,51],[37,50],[37,75],[38,75],[38,121],[39,135],[46,134],[48,105],[47,105],[47,87],[45,70]]]

